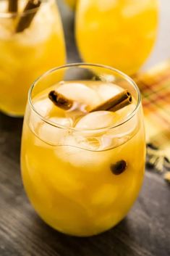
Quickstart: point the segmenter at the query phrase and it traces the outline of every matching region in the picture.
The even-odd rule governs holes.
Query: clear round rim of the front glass
[[[41,115],[37,110],[35,110],[35,107],[33,106],[33,101],[32,101],[32,93],[33,93],[33,89],[35,88],[36,84],[38,83],[39,80],[41,80],[42,78],[46,77],[46,75],[49,75],[57,70],[61,70],[67,67],[79,67],[79,66],[91,66],[91,67],[101,67],[101,68],[105,68],[106,70],[112,70],[115,73],[122,75],[123,78],[125,80],[127,80],[129,83],[132,84],[132,86],[135,88],[135,91],[137,92],[137,104],[135,106],[135,109],[132,110],[132,112],[130,112],[130,114],[124,118],[124,120],[120,121],[119,123],[116,123],[116,125],[110,125],[107,127],[103,127],[103,128],[74,128],[74,127],[67,127],[64,125],[60,125],[57,123],[52,122],[51,120],[48,120],[48,118],[43,117],[43,115]],[[101,65],[101,64],[93,64],[93,63],[88,63],[88,62],[76,62],[76,63],[70,63],[67,65],[61,65],[59,67],[54,67],[51,70],[46,71],[46,73],[43,73],[43,75],[40,75],[34,82],[33,84],[30,86],[30,89],[28,91],[28,104],[30,105],[31,109],[33,110],[33,112],[35,112],[36,115],[38,115],[38,117],[41,118],[41,120],[45,123],[48,123],[49,125],[52,125],[56,128],[62,128],[65,130],[69,130],[69,131],[88,131],[88,132],[94,132],[94,131],[106,131],[106,130],[111,130],[114,128],[118,128],[121,125],[124,125],[124,123],[127,123],[130,119],[132,119],[132,117],[134,117],[140,107],[140,102],[141,102],[141,94],[140,94],[140,89],[138,88],[137,84],[135,83],[135,81],[129,77],[129,75],[126,75],[125,73],[123,73],[120,70],[117,70],[114,67],[110,67],[107,65]]]

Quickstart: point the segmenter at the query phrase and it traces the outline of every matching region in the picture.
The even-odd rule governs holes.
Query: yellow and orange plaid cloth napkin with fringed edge
[[[143,96],[147,165],[170,181],[170,60],[134,79]]]

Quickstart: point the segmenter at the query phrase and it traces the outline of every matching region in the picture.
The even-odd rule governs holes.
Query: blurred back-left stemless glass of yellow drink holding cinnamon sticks
[[[65,63],[55,0],[1,0],[0,51],[0,111],[22,116],[35,78]]]

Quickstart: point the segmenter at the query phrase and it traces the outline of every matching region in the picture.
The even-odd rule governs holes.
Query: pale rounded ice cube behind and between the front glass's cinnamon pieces
[[[95,107],[101,103],[100,96],[92,88],[85,86],[83,83],[64,82],[57,88],[57,91],[69,99],[76,102],[87,104],[90,107]]]

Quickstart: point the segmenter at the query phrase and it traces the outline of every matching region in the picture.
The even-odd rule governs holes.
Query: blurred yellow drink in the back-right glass
[[[76,38],[85,62],[110,65],[132,75],[156,40],[157,0],[80,0]]]

